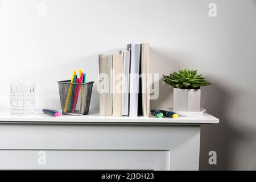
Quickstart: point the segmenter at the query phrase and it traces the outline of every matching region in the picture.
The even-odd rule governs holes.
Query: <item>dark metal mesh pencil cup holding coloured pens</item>
[[[57,83],[59,84],[60,104],[63,114],[88,114],[94,81],[75,84],[71,83],[71,80],[65,80],[57,81]]]

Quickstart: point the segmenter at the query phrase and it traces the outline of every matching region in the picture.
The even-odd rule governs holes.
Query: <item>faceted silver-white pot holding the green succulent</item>
[[[200,111],[201,89],[174,88],[173,110]]]

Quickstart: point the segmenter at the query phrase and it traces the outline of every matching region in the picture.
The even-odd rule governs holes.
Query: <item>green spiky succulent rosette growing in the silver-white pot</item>
[[[179,72],[172,72],[170,76],[163,75],[163,81],[174,88],[200,89],[200,86],[211,85],[202,75],[197,75],[194,69],[181,69]]]

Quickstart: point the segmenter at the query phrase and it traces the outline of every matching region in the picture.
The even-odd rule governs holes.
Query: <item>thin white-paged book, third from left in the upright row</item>
[[[120,51],[123,57],[122,79],[122,115],[129,115],[129,92],[130,92],[130,51]]]

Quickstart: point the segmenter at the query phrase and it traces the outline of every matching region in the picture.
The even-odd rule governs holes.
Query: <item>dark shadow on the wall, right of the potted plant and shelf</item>
[[[209,80],[214,83],[213,79],[209,78]],[[232,122],[225,109],[229,107],[233,97],[217,84],[202,88],[201,94],[201,106],[207,109],[208,113],[219,118],[220,123],[201,127],[200,170],[232,169],[233,143],[236,139],[245,138],[229,125]],[[208,163],[209,151],[217,152],[217,165]]]

